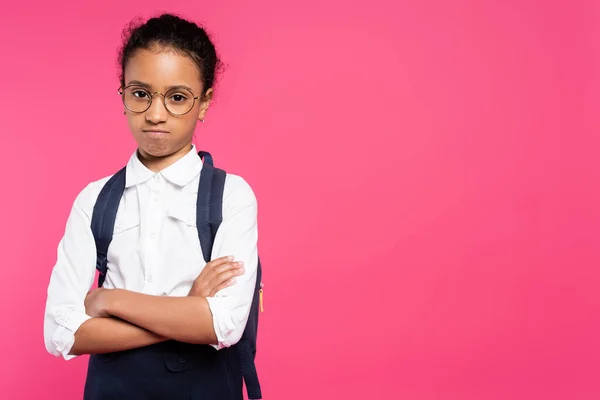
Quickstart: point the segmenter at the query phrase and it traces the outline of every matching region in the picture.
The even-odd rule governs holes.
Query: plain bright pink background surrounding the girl
[[[62,3],[0,13],[0,398],[81,398],[45,291],[161,10],[229,65],[197,143],[259,198],[265,399],[600,398],[598,2]]]

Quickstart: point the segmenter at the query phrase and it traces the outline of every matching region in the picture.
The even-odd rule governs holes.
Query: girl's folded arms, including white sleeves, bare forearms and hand
[[[186,297],[153,296],[123,289],[87,292],[95,272],[90,216],[98,188],[84,190],[67,221],[48,287],[44,316],[48,352],[69,359],[170,339],[217,347],[235,344],[254,288],[257,213],[249,186],[240,179],[228,179],[233,180],[230,183],[235,187],[226,191],[229,196],[224,196],[223,222],[212,256],[235,255],[247,263],[248,272],[231,258],[211,261]],[[231,280],[234,276],[238,278],[236,284]],[[215,296],[217,292],[220,293]]]

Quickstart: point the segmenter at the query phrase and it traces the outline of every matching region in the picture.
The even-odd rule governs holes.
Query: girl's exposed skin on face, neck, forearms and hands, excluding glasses
[[[138,50],[125,66],[124,79],[125,85],[144,83],[150,93],[166,93],[175,85],[189,87],[195,96],[204,90],[196,64],[165,48]],[[183,116],[171,115],[160,95],[154,96],[143,113],[126,110],[138,156],[148,169],[161,171],[191,150],[194,129],[198,120],[204,119],[212,95],[209,88]],[[216,344],[206,297],[233,285],[235,277],[243,273],[241,263],[224,257],[207,264],[187,297],[152,296],[123,289],[92,290],[85,300],[86,313],[92,318],[75,333],[71,354],[123,351],[169,339]]]

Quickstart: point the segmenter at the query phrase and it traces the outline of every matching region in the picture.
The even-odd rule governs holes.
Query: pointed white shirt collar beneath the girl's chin
[[[197,177],[201,170],[202,160],[198,156],[196,146],[192,145],[192,149],[185,156],[157,174],[163,176],[166,180],[175,185],[185,186]],[[136,150],[127,163],[127,168],[125,170],[125,187],[144,183],[154,175],[154,172],[150,171],[142,164]]]

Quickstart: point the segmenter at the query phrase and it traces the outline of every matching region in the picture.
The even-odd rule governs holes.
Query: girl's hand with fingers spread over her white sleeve
[[[188,296],[212,297],[219,290],[235,283],[235,277],[244,273],[244,263],[233,262],[233,257],[212,260],[194,281]]]

